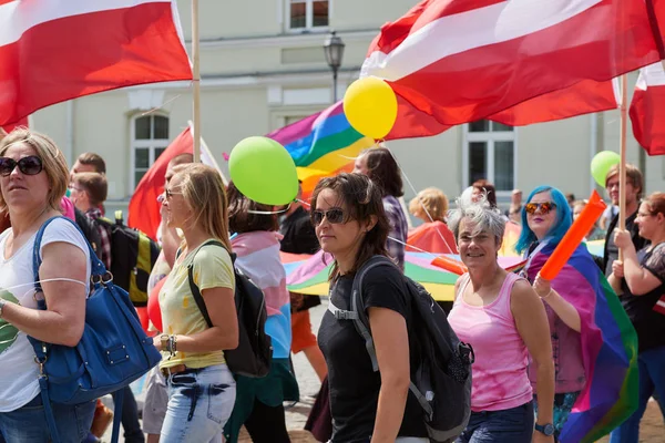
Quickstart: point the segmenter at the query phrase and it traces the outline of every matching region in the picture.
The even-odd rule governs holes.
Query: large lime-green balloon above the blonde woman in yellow
[[[287,205],[298,195],[296,164],[288,151],[267,137],[247,137],[228,157],[231,179],[247,198]]]

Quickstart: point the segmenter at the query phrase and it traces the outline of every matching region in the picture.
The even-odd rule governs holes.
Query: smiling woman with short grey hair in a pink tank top
[[[471,418],[458,443],[545,443],[533,431],[533,389],[528,356],[538,365],[538,395],[548,399],[538,426],[551,426],[554,364],[545,309],[529,282],[499,266],[505,217],[485,195],[458,199],[449,225],[469,272],[456,282],[448,317],[461,341],[473,347]],[[536,429],[539,429],[536,426]]]

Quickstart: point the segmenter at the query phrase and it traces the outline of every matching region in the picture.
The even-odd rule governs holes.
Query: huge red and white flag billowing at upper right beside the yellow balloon
[[[610,81],[661,60],[652,1],[423,0],[381,28],[361,75],[398,96],[387,138],[612,109]]]

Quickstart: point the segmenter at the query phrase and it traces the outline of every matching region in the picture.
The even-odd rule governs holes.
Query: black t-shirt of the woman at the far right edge
[[[665,293],[665,243],[652,250],[637,253],[640,265],[656,276],[662,285],[643,296],[622,295],[620,300],[637,331],[640,352],[665,346],[665,316],[654,311],[654,306]]]

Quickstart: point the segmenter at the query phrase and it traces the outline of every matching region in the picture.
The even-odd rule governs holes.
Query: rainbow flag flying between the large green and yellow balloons
[[[351,172],[354,159],[375,141],[354,130],[341,102],[267,135],[289,152],[306,198],[321,177]]]

